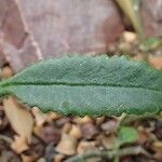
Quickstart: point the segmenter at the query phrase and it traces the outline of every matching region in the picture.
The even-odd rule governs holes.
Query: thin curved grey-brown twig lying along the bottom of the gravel
[[[144,148],[141,148],[140,146],[136,146],[136,147],[124,148],[118,151],[117,150],[93,151],[93,152],[71,157],[67,159],[65,162],[81,162],[84,161],[85,159],[94,158],[94,157],[100,157],[103,159],[112,159],[114,157],[124,157],[129,154],[133,154],[133,156],[144,154],[150,158],[150,154]]]

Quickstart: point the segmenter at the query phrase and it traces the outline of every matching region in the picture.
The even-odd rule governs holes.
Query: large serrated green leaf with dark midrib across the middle
[[[42,60],[0,84],[30,107],[77,116],[162,110],[162,72],[144,62],[107,56]]]

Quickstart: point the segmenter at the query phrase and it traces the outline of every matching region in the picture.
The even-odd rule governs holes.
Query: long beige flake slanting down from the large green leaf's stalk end
[[[31,113],[23,108],[18,102],[9,97],[3,100],[4,112],[13,127],[13,130],[21,136],[27,139],[28,143],[31,141],[31,134],[33,127],[33,118]]]

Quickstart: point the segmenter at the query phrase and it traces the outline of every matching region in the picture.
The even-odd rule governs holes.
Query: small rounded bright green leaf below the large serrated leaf
[[[134,127],[121,126],[118,133],[117,145],[132,144],[138,140],[138,132]]]

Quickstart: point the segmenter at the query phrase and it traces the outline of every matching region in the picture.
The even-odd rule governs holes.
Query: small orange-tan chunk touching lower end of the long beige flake
[[[27,150],[29,147],[27,145],[27,140],[24,136],[14,136],[15,140],[12,143],[11,148],[17,152],[22,153],[23,151]]]

